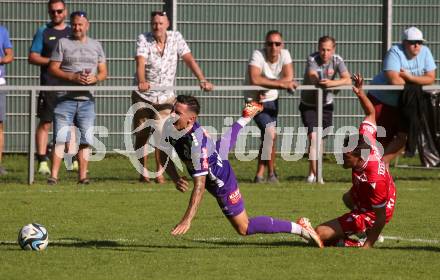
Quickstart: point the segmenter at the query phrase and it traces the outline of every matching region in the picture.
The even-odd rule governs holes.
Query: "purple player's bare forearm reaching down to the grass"
[[[200,202],[203,198],[203,193],[205,192],[206,176],[194,177],[194,188],[191,193],[191,198],[189,200],[188,208],[186,209],[185,215],[183,215],[180,223],[174,227],[171,231],[172,235],[185,234],[191,227],[191,221],[197,213]]]

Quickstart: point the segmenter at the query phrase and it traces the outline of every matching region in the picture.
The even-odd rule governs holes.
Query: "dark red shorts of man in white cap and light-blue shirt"
[[[402,118],[398,107],[384,104],[372,95],[368,95],[368,98],[373,103],[374,110],[376,111],[376,125],[385,128],[385,137],[380,134],[379,130],[377,135],[377,141],[383,147],[386,147],[398,132],[408,132],[401,122]]]

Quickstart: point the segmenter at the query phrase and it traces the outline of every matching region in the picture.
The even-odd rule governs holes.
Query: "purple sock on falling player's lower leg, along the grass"
[[[249,219],[247,235],[255,233],[291,233],[292,223],[290,221],[276,220],[272,217],[259,216]]]

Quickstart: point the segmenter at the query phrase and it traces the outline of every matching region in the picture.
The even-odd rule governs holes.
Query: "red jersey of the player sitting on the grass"
[[[373,208],[386,206],[386,221],[388,222],[394,211],[396,188],[376,147],[376,133],[376,126],[368,121],[362,122],[359,127],[359,136],[364,137],[371,145],[371,149],[364,165],[352,170],[353,186],[350,193],[355,211],[365,213],[373,220],[375,219]]]

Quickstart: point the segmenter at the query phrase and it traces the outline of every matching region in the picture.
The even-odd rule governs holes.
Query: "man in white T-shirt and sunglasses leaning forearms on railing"
[[[270,88],[268,91],[246,92],[248,100],[263,102],[263,111],[254,120],[261,130],[261,145],[254,183],[264,183],[267,167],[267,182],[277,183],[275,171],[276,125],[278,116],[278,89],[293,90],[294,79],[292,58],[284,49],[281,32],[271,30],[266,34],[265,47],[255,50],[249,59],[246,84]]]

